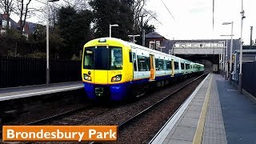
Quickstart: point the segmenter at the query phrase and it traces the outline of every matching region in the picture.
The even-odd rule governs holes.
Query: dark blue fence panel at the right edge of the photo
[[[242,89],[256,98],[256,62],[242,64]]]

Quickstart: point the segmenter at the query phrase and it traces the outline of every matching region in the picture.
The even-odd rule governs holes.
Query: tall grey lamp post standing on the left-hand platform
[[[46,86],[50,82],[50,66],[49,66],[49,5],[48,2],[57,2],[59,0],[46,0]]]

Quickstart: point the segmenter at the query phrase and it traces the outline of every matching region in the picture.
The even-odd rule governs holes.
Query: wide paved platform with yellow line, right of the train
[[[150,143],[256,144],[256,103],[208,74]]]

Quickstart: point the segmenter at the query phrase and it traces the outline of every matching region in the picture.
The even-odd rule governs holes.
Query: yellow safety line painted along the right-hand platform
[[[210,99],[210,86],[211,86],[212,78],[213,78],[213,75],[211,75],[211,78],[210,78],[209,86],[208,86],[208,89],[206,92],[205,102],[203,103],[202,112],[200,114],[200,118],[199,118],[199,122],[198,122],[198,127],[194,134],[193,144],[201,144],[202,143],[202,132],[203,132],[203,128],[205,126],[205,121],[206,121],[206,111],[207,111],[207,106],[208,106],[209,99]]]

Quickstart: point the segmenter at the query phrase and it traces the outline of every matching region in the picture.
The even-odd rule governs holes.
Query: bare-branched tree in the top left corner
[[[9,22],[10,22],[10,14],[14,10],[14,2],[13,0],[1,0],[0,1],[0,9],[7,14],[7,25],[6,28],[9,29]]]

